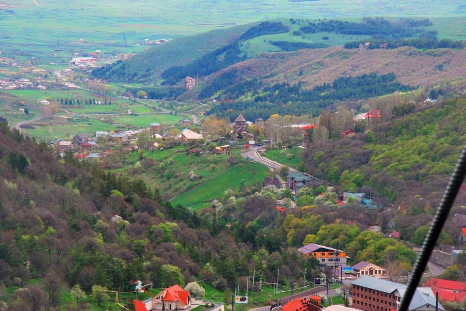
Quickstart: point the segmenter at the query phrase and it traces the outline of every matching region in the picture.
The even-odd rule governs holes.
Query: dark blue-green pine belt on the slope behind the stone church
[[[219,76],[215,83],[209,88],[209,93],[218,92],[214,87],[221,87],[222,79],[225,76]],[[233,77],[233,75],[232,75]],[[224,84],[231,80],[226,79]],[[280,115],[303,115],[310,114],[317,116],[321,109],[331,106],[335,101],[351,101],[363,98],[380,96],[396,91],[409,91],[411,87],[395,81],[393,73],[378,75],[365,74],[356,77],[340,77],[333,81],[332,84],[324,83],[316,86],[311,90],[304,88],[301,82],[289,84],[286,82],[276,83],[264,87],[261,91],[255,88],[260,84],[251,83],[253,89],[247,89],[245,81],[234,84],[225,91],[227,98],[232,98],[233,94],[244,95],[251,92],[252,100],[237,100],[233,103],[223,102],[211,109],[208,114],[227,116],[232,121],[242,113],[248,120],[262,118],[266,120],[270,115],[278,113]],[[238,89],[236,89],[238,85]],[[246,91],[239,93],[239,91]],[[259,93],[260,92],[260,93]],[[236,98],[238,98],[237,96]],[[233,109],[233,111],[227,111]]]

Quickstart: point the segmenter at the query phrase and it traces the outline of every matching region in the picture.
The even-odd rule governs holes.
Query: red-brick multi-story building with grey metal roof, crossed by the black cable
[[[352,282],[352,308],[363,311],[391,311],[398,309],[407,285],[362,276]],[[408,306],[409,311],[435,310],[435,295],[430,287],[418,287]],[[445,309],[438,304],[438,310]]]

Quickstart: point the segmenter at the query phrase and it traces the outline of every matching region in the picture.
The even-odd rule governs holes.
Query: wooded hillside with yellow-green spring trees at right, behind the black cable
[[[375,193],[375,189],[395,203],[399,217],[391,228],[403,239],[412,239],[416,229],[432,219],[466,143],[465,105],[465,97],[450,99],[372,124],[361,134],[316,142],[303,153],[303,160],[311,174],[342,190]],[[460,206],[465,200],[466,192],[460,191],[457,211],[464,213]],[[456,234],[453,228],[443,241],[451,243]]]

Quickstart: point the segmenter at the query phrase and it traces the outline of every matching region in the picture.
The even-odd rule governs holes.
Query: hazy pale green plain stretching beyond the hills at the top
[[[144,0],[79,2],[17,0],[0,11],[4,55],[36,63],[67,62],[73,52],[137,53],[144,39],[176,38],[276,18],[428,16],[445,18],[445,32],[465,36],[451,17],[465,16],[462,0],[228,1]],[[448,19],[447,19],[448,18]],[[464,26],[464,24],[462,24]],[[449,28],[452,28],[449,30]],[[458,32],[461,31],[461,32]],[[442,34],[440,31],[439,34]],[[79,43],[82,39],[84,42]],[[163,46],[163,45],[162,45]],[[181,53],[184,53],[181,51]],[[184,53],[189,58],[189,53]],[[192,55],[192,54],[191,54]]]

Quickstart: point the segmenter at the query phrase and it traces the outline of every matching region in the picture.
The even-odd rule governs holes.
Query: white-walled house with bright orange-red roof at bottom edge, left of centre
[[[150,310],[185,310],[191,307],[191,295],[180,285],[173,285],[145,301],[147,311]]]

